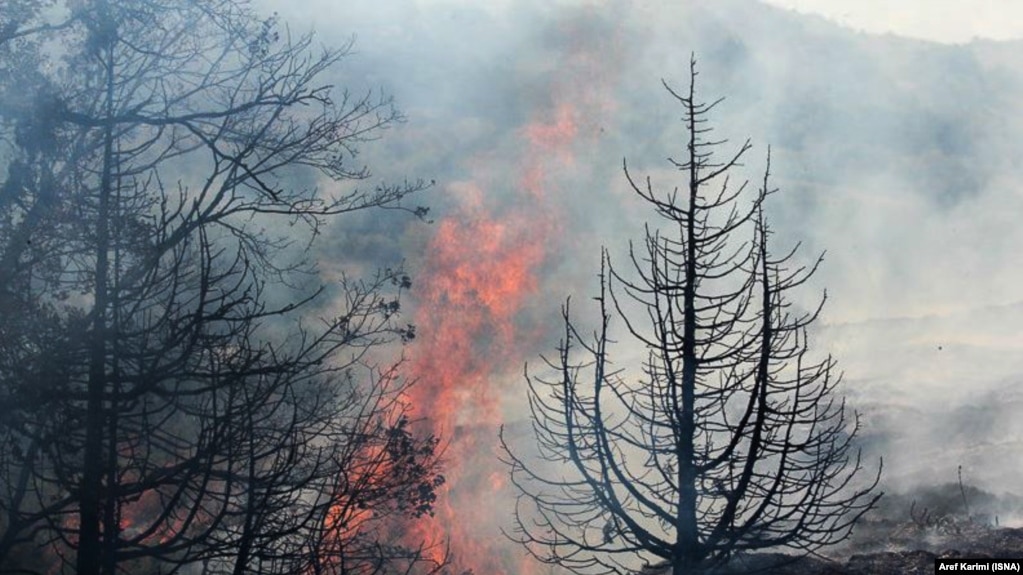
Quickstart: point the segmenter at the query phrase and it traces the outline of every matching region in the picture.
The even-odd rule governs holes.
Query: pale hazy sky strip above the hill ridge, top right
[[[1023,2],[1017,0],[766,0],[815,13],[863,32],[892,33],[935,42],[1023,38]]]

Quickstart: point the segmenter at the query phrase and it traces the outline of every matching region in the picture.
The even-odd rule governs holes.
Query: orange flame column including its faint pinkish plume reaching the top
[[[477,178],[449,186],[460,207],[437,225],[417,278],[415,323],[421,337],[411,357],[417,383],[410,395],[432,431],[450,443],[436,516],[411,535],[441,543],[446,538],[455,573],[539,571],[499,531],[508,523],[514,494],[497,458],[497,427],[501,402],[511,391],[502,384],[519,385],[519,370],[535,355],[542,334],[539,326],[524,325],[523,311],[539,294],[541,268],[560,240],[551,192],[558,191],[559,175],[575,164],[579,136],[592,134],[597,125],[592,120],[608,112],[599,88],[607,81],[604,68],[613,64],[607,54],[593,53],[593,38],[582,38],[575,29],[580,24],[592,23],[568,23],[563,35],[571,45],[562,55],[564,70],[550,76],[551,103],[516,133],[526,150],[513,162],[519,181]],[[572,42],[573,37],[583,41]],[[589,130],[583,119],[591,122]],[[503,200],[498,203],[496,195]]]

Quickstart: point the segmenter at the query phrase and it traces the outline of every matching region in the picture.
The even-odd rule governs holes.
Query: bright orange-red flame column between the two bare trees
[[[412,361],[418,383],[416,405],[450,438],[447,483],[435,525],[425,533],[445,533],[459,570],[500,575],[528,573],[533,565],[509,557],[497,500],[510,500],[506,473],[497,459],[496,428],[504,392],[498,382],[532,352],[535,329],[517,320],[539,289],[539,271],[551,247],[557,221],[543,201],[543,159],[570,159],[567,146],[576,133],[574,113],[563,106],[549,123],[536,123],[522,135],[531,149],[522,170],[521,191],[528,198],[496,216],[475,183],[452,186],[461,209],[440,222],[429,246],[420,281],[416,323],[428,334]],[[440,559],[440,558],[438,558]]]

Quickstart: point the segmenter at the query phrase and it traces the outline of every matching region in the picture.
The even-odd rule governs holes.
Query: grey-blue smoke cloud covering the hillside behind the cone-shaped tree
[[[869,35],[752,0],[260,5],[324,42],[356,36],[339,84],[382,87],[409,120],[362,159],[380,178],[438,180],[426,198],[438,220],[470,184],[495,213],[524,209],[524,167],[543,154],[524,130],[555,125],[559,106],[573,106],[569,157],[538,161],[536,208],[553,214],[557,234],[520,318],[542,333],[537,353],[554,342],[563,299],[592,295],[597,247],[621,254],[649,217],[626,191],[622,158],[672,181],[664,159],[683,142],[660,81],[684,86],[696,52],[702,93],[726,97],[719,133],[756,145],[743,172],[751,185],[772,146],[779,241],[803,241],[807,261],[827,250],[803,303],[828,289],[815,349],[845,371],[889,485],[953,481],[963,465],[970,481],[1014,487],[1023,471],[1018,42]],[[424,261],[435,228],[366,217],[336,231],[347,250],[339,258]],[[520,368],[500,384],[509,419]]]

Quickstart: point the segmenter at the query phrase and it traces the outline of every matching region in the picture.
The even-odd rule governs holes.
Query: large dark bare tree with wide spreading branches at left
[[[0,12],[0,572],[438,569],[387,531],[442,481],[380,367],[410,280],[309,261],[336,216],[424,214],[347,183],[391,100],[242,1]]]

